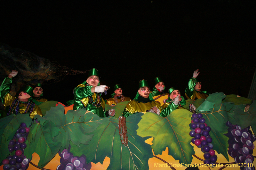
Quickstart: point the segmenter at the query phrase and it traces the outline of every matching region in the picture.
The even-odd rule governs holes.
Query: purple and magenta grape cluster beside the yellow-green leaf
[[[209,135],[211,128],[207,126],[201,113],[193,113],[191,118],[191,131],[189,132],[189,135],[193,137],[191,142],[198,148],[201,148],[201,151],[204,153],[204,164],[215,166],[217,155],[215,155],[212,138]]]

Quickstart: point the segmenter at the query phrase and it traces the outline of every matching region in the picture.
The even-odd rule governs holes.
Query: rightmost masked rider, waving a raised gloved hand
[[[185,90],[185,95],[188,99],[206,99],[209,96],[209,92],[201,91],[202,83],[196,78],[199,72],[198,69],[194,71],[193,77],[188,81],[188,86]]]

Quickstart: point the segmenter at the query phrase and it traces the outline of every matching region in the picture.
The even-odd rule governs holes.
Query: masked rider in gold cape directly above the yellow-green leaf
[[[123,116],[128,117],[139,112],[152,112],[160,116],[165,115],[161,111],[161,104],[151,96],[147,80],[140,80],[137,95],[126,105]]]

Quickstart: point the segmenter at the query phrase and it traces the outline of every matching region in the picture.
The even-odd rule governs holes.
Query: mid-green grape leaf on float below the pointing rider
[[[69,140],[77,146],[88,144],[88,141],[92,140],[93,135],[87,133],[94,131],[99,126],[99,120],[102,118],[92,112],[86,112],[87,110],[83,108],[76,111],[69,110],[65,115],[62,105],[52,107],[51,110],[46,112],[44,118],[52,121],[60,129],[60,134],[54,137],[53,141],[62,143],[61,151],[68,148]]]

